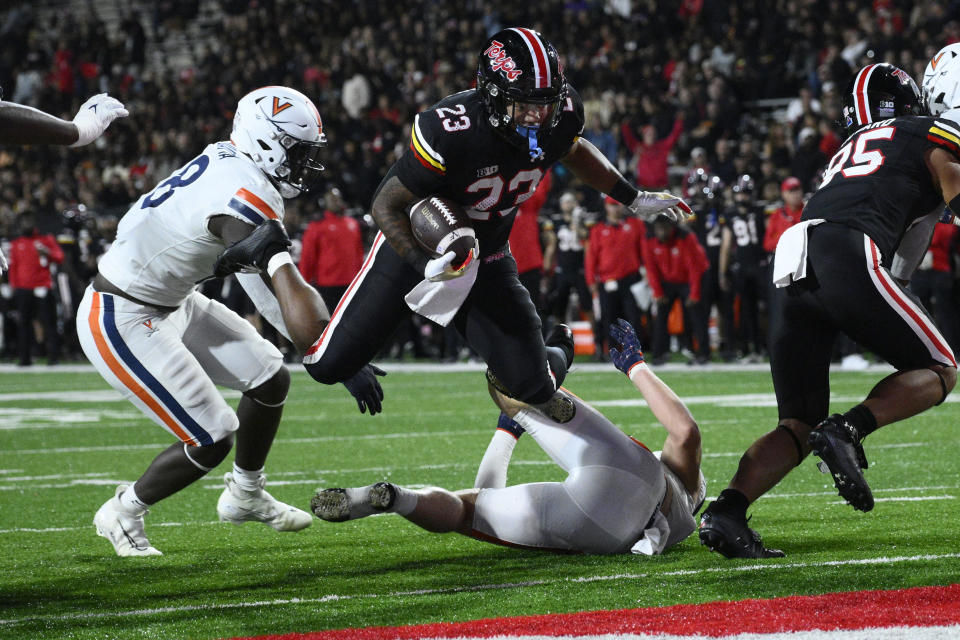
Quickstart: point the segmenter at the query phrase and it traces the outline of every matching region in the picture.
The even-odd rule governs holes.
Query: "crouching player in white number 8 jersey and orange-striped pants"
[[[310,525],[309,514],[264,490],[263,467],[290,385],[283,358],[196,284],[213,276],[225,246],[265,221],[280,223],[283,199],[308,191],[319,178],[325,145],[309,98],[286,87],[257,89],[237,105],[230,142],[208,145],[120,221],[80,304],[77,333],[111,386],[178,442],[97,511],[97,533],[118,555],[160,555],[144,532],[147,508],[220,464],[235,432],[233,471],[217,503],[220,520],[259,521],[278,531]],[[238,279],[285,333],[260,276]],[[313,304],[317,317],[327,315],[319,295],[303,303]],[[243,392],[236,411],[217,385]]]

